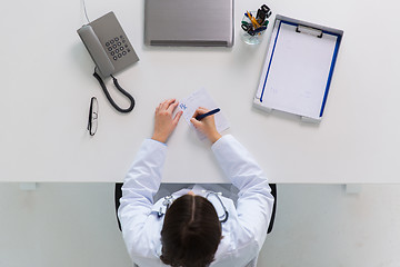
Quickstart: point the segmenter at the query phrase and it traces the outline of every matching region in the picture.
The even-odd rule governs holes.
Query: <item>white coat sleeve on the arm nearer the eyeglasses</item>
[[[152,240],[146,235],[144,227],[153,206],[153,196],[160,187],[166,154],[164,144],[146,139],[123,181],[118,217],[132,258],[151,254],[149,245]]]

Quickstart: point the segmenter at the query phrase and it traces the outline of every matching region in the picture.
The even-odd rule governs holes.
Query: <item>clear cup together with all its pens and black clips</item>
[[[271,10],[267,4],[262,4],[258,11],[246,11],[241,20],[242,40],[248,44],[260,43],[267,31],[270,16]]]

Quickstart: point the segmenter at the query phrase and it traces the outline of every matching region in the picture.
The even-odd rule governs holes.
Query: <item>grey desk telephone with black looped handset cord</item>
[[[118,111],[130,112],[134,107],[134,99],[120,87],[113,75],[139,61],[139,58],[116,14],[109,12],[89,24],[82,26],[78,30],[78,34],[96,63],[93,76],[99,81],[107,99]],[[103,78],[107,77],[111,77],[117,89],[129,99],[130,106],[128,108],[120,108],[113,101],[103,82]]]

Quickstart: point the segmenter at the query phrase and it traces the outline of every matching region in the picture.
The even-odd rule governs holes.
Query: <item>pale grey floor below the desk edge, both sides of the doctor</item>
[[[400,266],[400,185],[279,185],[259,266]],[[112,184],[0,184],[0,267],[131,266]]]

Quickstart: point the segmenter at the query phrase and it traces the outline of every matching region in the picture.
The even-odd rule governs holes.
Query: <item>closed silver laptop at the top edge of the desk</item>
[[[149,46],[232,47],[233,0],[146,0]]]

